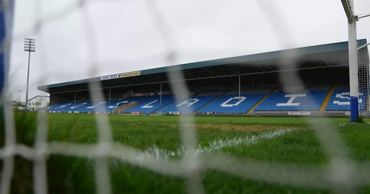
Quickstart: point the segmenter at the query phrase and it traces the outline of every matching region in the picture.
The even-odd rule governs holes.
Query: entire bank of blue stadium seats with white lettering
[[[344,86],[343,86],[344,87]],[[327,95],[327,88],[323,86],[312,86],[317,91],[306,92],[273,92],[261,102],[254,111],[318,111],[322,105],[325,96]],[[326,110],[350,110],[349,103],[349,89],[341,88],[333,92]],[[270,89],[269,89],[270,90]],[[313,90],[313,89],[312,89]],[[235,91],[230,91],[226,95],[221,95],[224,92],[205,92],[198,96],[191,96],[175,101],[172,95],[163,95],[162,103],[160,103],[160,96],[135,96],[127,100],[112,100],[102,101],[93,104],[91,101],[84,102],[62,102],[50,106],[49,111],[109,111],[112,112],[118,108],[120,103],[138,102],[138,105],[125,110],[125,113],[142,112],[151,113],[157,112],[219,112],[219,113],[245,113],[250,110],[258,101],[260,101],[266,94],[267,90],[258,93],[258,90],[244,91],[246,94],[239,95]],[[256,93],[253,93],[256,92]],[[221,96],[219,96],[221,95]],[[312,101],[307,101],[308,96]],[[359,95],[359,110],[365,109],[367,95],[360,93]],[[207,103],[209,103],[207,105]],[[204,106],[204,107],[203,107]]]

